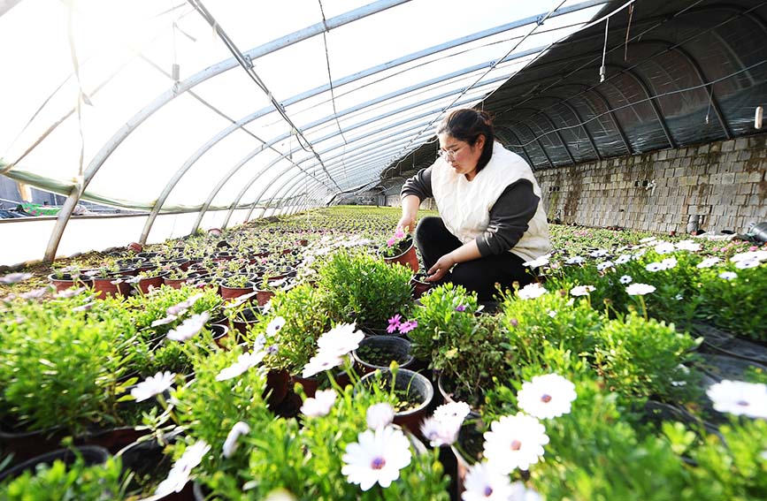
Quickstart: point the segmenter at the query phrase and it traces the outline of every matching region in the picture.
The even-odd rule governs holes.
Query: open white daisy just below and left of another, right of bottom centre
[[[515,468],[526,470],[537,463],[546,444],[548,435],[541,421],[523,413],[503,416],[485,432],[485,458],[490,467],[510,474]]]

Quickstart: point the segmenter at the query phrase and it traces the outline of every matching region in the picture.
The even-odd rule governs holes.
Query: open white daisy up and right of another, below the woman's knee
[[[569,414],[571,402],[576,397],[575,384],[563,376],[547,374],[522,383],[522,389],[517,393],[517,403],[527,414],[538,419],[551,419]]]

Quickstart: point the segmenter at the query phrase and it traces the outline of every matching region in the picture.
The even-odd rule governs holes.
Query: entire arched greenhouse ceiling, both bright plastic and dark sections
[[[160,214],[196,214],[195,231],[206,212],[226,226],[390,185],[433,161],[458,107],[494,111],[537,168],[730,137],[743,93],[764,94],[763,16],[745,0],[5,0],[0,173],[67,196],[52,258],[80,200],[148,212],[144,242]]]

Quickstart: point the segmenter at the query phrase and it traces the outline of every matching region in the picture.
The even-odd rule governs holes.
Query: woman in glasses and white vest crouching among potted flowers
[[[496,284],[529,284],[533,275],[524,263],[551,248],[530,166],[495,142],[484,111],[453,111],[437,136],[440,157],[405,181],[397,224],[412,229],[421,201],[436,201],[441,217],[424,217],[415,232],[426,280],[463,285],[479,300],[490,300]]]

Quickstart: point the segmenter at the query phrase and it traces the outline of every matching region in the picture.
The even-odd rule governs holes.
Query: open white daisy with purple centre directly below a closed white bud
[[[346,446],[341,474],[362,490],[370,490],[376,483],[386,489],[410,465],[411,457],[410,442],[401,430],[366,429],[357,435],[357,442]]]

